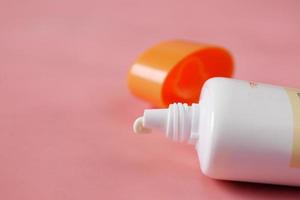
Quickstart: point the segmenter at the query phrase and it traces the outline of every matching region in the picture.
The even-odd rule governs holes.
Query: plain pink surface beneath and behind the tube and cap
[[[192,146],[135,136],[126,72],[161,40],[229,48],[235,77],[300,87],[299,1],[1,1],[0,199],[299,199],[216,181]],[[280,173],[280,172],[278,172]]]

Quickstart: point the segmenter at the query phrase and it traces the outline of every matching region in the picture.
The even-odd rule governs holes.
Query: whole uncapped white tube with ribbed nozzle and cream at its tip
[[[300,186],[300,89],[211,78],[198,104],[147,109],[136,133],[189,141],[212,178]]]

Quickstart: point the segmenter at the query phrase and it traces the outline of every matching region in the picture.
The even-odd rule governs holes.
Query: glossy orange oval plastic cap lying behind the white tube
[[[230,77],[233,60],[221,47],[184,40],[166,41],[145,51],[132,65],[128,87],[158,107],[195,103],[211,77]]]

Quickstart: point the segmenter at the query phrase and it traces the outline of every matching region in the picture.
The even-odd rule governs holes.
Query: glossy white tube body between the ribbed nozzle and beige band
[[[203,86],[200,106],[196,147],[206,175],[300,186],[300,168],[290,166],[296,138],[284,87],[212,78]]]

